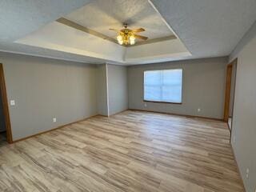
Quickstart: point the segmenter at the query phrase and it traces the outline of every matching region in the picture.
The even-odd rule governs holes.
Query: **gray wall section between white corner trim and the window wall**
[[[107,65],[109,113],[128,109],[127,67]]]

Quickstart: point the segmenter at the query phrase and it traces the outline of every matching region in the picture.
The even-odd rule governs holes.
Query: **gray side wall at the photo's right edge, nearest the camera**
[[[256,190],[256,24],[230,55],[238,57],[231,144],[247,192]],[[246,169],[250,170],[246,178]]]

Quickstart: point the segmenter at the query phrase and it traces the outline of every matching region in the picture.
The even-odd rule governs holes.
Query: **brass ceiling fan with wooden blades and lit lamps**
[[[143,28],[130,30],[129,28],[127,28],[128,26],[126,23],[123,25],[123,27],[124,28],[122,30],[110,29],[110,30],[114,30],[115,32],[118,33],[117,40],[120,45],[123,45],[123,44],[124,45],[128,45],[128,44],[134,45],[136,38],[139,38],[142,40],[148,39],[145,36],[137,34],[137,33],[145,31]]]

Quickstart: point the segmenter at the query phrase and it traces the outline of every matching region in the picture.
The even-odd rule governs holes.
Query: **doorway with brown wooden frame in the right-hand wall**
[[[226,96],[224,107],[224,122],[227,122],[230,132],[232,130],[233,110],[234,110],[234,91],[237,74],[238,58],[230,62],[226,68]]]

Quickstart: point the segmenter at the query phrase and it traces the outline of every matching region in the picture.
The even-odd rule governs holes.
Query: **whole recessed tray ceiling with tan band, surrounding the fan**
[[[146,31],[140,34],[149,39],[136,39],[135,46],[120,46],[117,34],[109,29],[122,29],[124,22],[130,29],[144,28]],[[95,0],[15,42],[119,64],[190,56],[147,0]]]

